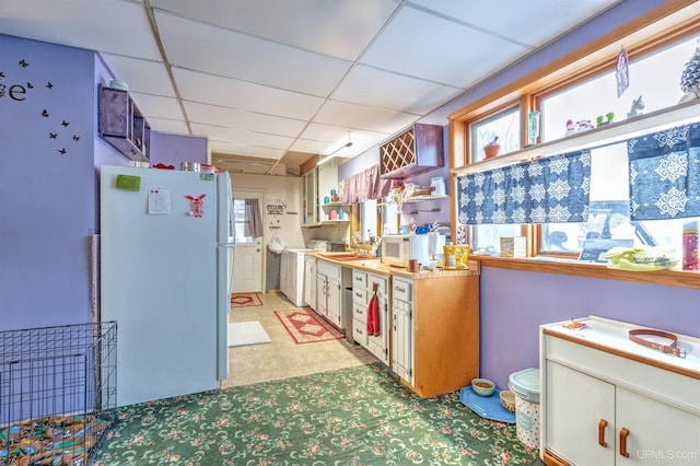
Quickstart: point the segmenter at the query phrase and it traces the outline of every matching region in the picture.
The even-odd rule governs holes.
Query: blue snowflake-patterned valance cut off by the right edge
[[[700,215],[700,123],[627,141],[630,218]]]

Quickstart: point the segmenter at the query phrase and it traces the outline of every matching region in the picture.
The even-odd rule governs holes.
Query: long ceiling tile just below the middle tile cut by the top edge
[[[179,68],[325,97],[351,65],[172,14],[156,20],[167,59]]]

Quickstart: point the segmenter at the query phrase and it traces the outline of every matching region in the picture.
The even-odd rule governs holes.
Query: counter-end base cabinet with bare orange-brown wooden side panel
[[[392,275],[392,370],[422,398],[479,376],[479,266]]]

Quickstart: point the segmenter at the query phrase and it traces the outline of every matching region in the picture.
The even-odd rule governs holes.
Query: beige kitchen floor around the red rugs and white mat
[[[222,388],[350,368],[376,361],[343,339],[296,345],[275,314],[296,308],[281,293],[258,293],[261,306],[232,307],[229,322],[259,321],[271,343],[229,348],[229,378]]]

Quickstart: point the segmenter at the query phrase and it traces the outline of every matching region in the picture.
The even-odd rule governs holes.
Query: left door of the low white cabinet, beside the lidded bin
[[[615,464],[615,385],[552,361],[546,384],[545,446],[573,465]]]

